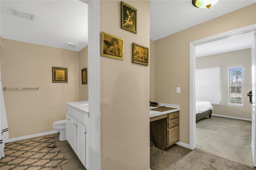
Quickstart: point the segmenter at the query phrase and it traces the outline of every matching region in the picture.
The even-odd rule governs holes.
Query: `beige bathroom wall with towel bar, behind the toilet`
[[[1,47],[3,87],[40,88],[4,91],[9,137],[54,130],[66,119],[65,103],[78,101],[79,53],[7,39]],[[52,83],[52,66],[68,68],[68,83]]]

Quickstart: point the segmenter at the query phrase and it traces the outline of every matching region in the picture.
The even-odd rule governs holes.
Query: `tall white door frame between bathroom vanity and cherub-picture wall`
[[[89,161],[87,170],[100,170],[100,1],[80,0],[88,4],[88,98]]]

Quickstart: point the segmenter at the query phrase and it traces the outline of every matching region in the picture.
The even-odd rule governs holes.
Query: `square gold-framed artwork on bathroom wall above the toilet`
[[[68,68],[52,67],[52,83],[68,83]]]

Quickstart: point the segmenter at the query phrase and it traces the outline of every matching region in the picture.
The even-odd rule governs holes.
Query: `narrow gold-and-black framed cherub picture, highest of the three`
[[[122,1],[121,28],[137,34],[137,10]]]

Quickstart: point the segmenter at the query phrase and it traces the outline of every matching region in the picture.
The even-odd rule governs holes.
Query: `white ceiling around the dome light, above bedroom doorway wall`
[[[209,9],[201,9],[191,0],[151,0],[150,39],[158,40],[254,3],[256,0],[220,0]]]

